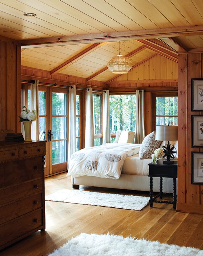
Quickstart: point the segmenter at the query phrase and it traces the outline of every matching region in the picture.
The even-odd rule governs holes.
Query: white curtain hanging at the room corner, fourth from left
[[[111,142],[109,90],[103,92],[103,145]]]

